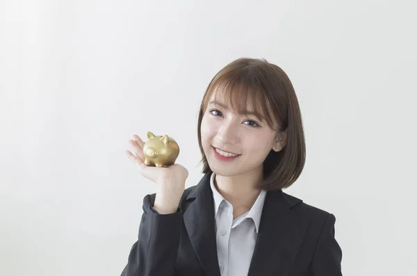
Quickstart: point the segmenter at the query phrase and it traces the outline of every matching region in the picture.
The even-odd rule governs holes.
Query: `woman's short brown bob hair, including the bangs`
[[[277,131],[277,135],[286,130],[286,146],[279,152],[270,150],[263,162],[263,181],[257,187],[266,191],[290,187],[304,169],[306,145],[300,106],[286,73],[265,59],[238,58],[213,77],[202,99],[197,126],[202,153],[199,163],[204,165],[204,174],[212,171],[202,148],[201,124],[213,92],[215,98],[220,94],[236,113],[245,112],[250,101],[259,119]]]

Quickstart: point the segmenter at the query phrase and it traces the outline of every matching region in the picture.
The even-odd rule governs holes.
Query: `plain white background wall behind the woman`
[[[202,177],[197,112],[240,57],[291,78],[343,275],[416,271],[415,1],[0,1],[0,275],[120,275],[142,198],[133,133]]]

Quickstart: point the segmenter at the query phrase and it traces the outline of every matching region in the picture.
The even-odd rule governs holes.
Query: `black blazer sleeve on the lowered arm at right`
[[[311,276],[341,276],[342,250],[334,239],[336,217],[329,214],[318,237],[309,270]]]

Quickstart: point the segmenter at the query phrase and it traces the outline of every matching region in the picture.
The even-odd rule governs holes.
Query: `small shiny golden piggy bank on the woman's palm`
[[[143,145],[144,164],[147,166],[170,166],[179,155],[177,142],[167,135],[155,136],[147,132],[148,140]]]

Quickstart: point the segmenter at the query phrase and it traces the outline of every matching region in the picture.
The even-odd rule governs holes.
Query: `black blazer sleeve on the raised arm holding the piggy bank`
[[[143,199],[138,241],[133,244],[121,276],[174,276],[182,227],[182,212],[158,214],[152,198]]]

